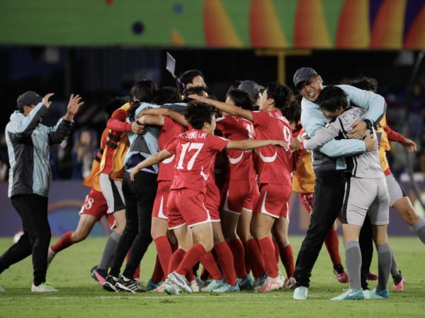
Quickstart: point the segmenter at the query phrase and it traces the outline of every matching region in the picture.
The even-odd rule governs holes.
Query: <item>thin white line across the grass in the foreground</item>
[[[185,295],[185,297],[181,298],[181,299],[187,299],[187,298],[210,298],[210,299],[215,299],[214,296],[217,294],[212,294],[212,295],[193,295],[193,297],[187,297]],[[239,294],[241,295],[241,294]],[[235,297],[237,295],[217,295],[217,299],[218,298],[237,298]],[[259,294],[255,294],[254,298],[285,298],[286,295],[259,295]],[[145,300],[145,299],[151,299],[151,300],[177,300],[179,299],[179,296],[173,297],[173,296],[169,296],[166,297],[164,296],[147,296],[147,297],[137,297],[135,296],[94,296],[94,297],[72,297],[72,296],[57,296],[57,297],[13,297],[13,298],[0,298],[0,301],[4,301],[4,300],[86,300],[86,299],[100,299],[100,300],[110,300],[110,299],[128,299],[128,300]]]

